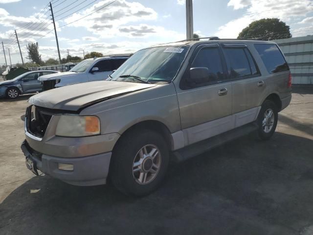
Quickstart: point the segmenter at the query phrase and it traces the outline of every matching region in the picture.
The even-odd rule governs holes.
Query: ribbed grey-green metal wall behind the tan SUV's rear
[[[313,36],[274,40],[284,52],[293,84],[313,84]]]

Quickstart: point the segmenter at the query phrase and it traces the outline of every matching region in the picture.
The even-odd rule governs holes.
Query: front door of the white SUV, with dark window
[[[104,81],[108,78],[108,75],[112,73],[112,60],[100,60],[92,68],[98,68],[98,71],[89,71],[88,80],[91,81]]]

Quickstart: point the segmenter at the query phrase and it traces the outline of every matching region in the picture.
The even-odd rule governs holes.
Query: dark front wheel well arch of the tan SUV
[[[171,132],[162,122],[156,120],[146,120],[138,122],[131,126],[130,128],[128,128],[126,131],[124,131],[121,137],[123,137],[126,133],[130,131],[139,129],[148,129],[161,134],[164,137],[166,143],[168,144],[169,149],[172,148]]]

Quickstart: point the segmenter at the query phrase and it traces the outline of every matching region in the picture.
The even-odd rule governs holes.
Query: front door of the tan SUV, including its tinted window
[[[209,77],[194,83],[190,68],[205,67]],[[232,127],[232,87],[218,44],[201,45],[190,60],[178,92],[185,145],[205,140]]]

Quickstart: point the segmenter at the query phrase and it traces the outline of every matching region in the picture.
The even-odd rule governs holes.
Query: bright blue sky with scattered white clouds
[[[48,4],[0,0],[0,40],[8,64],[8,49],[12,64],[22,62],[15,29],[24,61],[29,42],[39,43],[43,60],[58,58]],[[185,0],[51,0],[51,4],[61,58],[67,50],[81,57],[83,51],[133,53],[186,38]],[[286,22],[293,37],[313,34],[313,0],[193,0],[193,15],[194,32],[201,37],[237,38],[243,28],[262,18]]]

